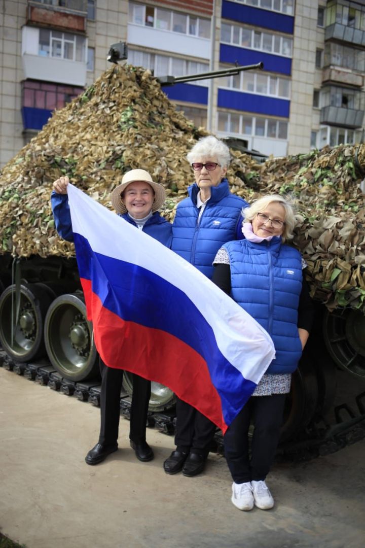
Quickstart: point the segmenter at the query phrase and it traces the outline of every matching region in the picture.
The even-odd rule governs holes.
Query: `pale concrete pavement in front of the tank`
[[[168,476],[173,437],[147,430],[141,463],[120,420],[119,449],[85,464],[100,410],[0,368],[0,530],[27,548],[362,548],[365,441],[280,463],[273,510],[237,510],[222,456],[195,478]]]

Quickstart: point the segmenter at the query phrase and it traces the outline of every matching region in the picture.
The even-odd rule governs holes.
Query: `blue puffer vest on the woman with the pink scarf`
[[[225,244],[231,271],[231,296],[271,336],[276,357],[267,373],[292,373],[302,355],[298,305],[302,290],[302,256],[281,238]]]

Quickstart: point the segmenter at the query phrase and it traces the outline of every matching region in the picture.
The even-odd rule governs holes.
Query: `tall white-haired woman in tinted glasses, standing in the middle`
[[[202,138],[187,159],[195,182],[188,187],[189,196],[177,206],[171,249],[211,278],[218,249],[242,237],[241,209],[248,204],[229,190],[226,175],[230,154],[223,141],[213,135]],[[164,470],[196,476],[204,470],[216,427],[181,399],[177,399],[176,417],[176,450],[165,460]]]

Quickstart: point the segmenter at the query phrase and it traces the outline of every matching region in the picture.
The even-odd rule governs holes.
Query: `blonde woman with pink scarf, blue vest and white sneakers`
[[[288,202],[264,196],[245,209],[244,239],[219,249],[213,282],[269,333],[276,356],[224,436],[224,453],[233,478],[232,503],[240,510],[274,506],[265,483],[280,437],[286,394],[314,316],[302,277],[299,251],[286,243],[296,224]],[[249,456],[248,429],[254,432]]]

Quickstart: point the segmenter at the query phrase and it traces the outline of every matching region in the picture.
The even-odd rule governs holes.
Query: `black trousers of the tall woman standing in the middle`
[[[177,398],[175,444],[178,451],[207,456],[217,427],[194,407]]]

